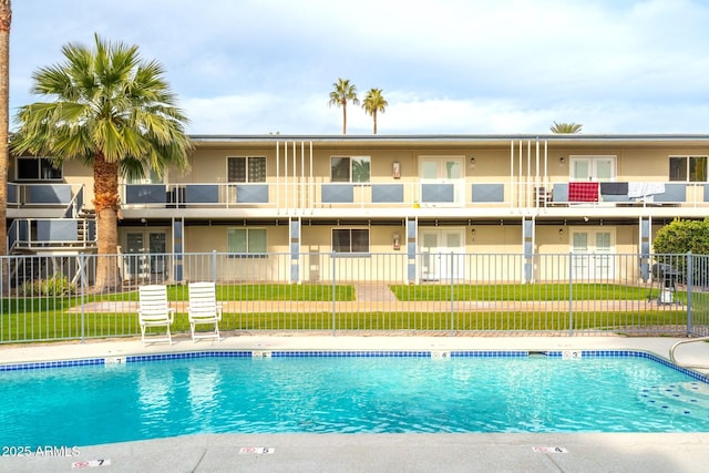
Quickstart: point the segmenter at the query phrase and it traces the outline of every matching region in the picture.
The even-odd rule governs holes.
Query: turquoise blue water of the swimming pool
[[[637,353],[299,354],[1,371],[0,445],[194,433],[709,431],[706,379]]]

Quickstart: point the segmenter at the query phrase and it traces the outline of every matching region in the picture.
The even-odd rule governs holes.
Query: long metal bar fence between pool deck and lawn
[[[613,275],[578,275],[574,265],[586,257],[590,267],[589,256],[568,254],[533,261],[432,253],[9,256],[9,271],[0,274],[0,343],[140,335],[136,289],[147,284],[168,286],[174,331],[186,333],[191,281],[217,284],[226,333],[709,336],[709,276],[687,284],[678,270],[678,290],[666,298],[664,280],[638,268],[638,255],[613,255]],[[685,268],[687,257],[671,261]]]

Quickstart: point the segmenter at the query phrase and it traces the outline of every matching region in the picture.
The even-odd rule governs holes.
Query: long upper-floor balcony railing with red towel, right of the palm
[[[372,182],[131,184],[129,208],[709,206],[709,184],[648,182]]]

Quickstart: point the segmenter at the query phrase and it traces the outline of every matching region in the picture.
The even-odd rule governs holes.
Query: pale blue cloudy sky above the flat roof
[[[707,133],[706,0],[14,0],[10,112],[94,32],[157,60],[193,134],[340,134],[338,78],[379,134]],[[348,106],[348,134],[372,120]]]

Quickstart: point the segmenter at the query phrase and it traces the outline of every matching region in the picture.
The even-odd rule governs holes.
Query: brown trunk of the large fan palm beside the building
[[[97,155],[93,163],[94,208],[99,260],[94,291],[120,286],[119,274],[119,165]]]

